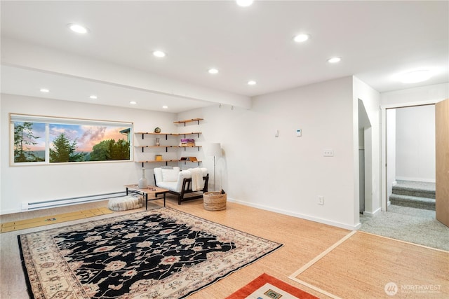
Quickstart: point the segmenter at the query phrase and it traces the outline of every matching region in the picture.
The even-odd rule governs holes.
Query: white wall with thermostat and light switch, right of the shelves
[[[228,198],[354,228],[352,85],[352,77],[340,78],[255,97],[250,110],[216,105],[178,117],[205,118],[205,141],[222,144],[217,181]],[[335,156],[323,157],[324,148],[333,148]],[[203,162],[210,173],[212,161]],[[319,195],[324,205],[317,204]]]

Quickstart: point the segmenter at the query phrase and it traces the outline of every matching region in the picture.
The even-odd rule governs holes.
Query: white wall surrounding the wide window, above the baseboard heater
[[[81,104],[36,97],[1,94],[1,198],[0,214],[18,212],[22,202],[58,200],[123,191],[123,185],[135,183],[142,165],[135,162],[93,162],[76,165],[10,166],[8,113],[60,116],[134,123],[135,132],[151,131],[159,126],[176,132],[175,114],[123,109],[112,106]],[[146,168],[152,165],[145,165]],[[152,171],[147,171],[152,177]]]

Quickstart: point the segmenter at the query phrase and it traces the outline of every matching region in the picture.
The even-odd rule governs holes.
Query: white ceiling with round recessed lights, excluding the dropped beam
[[[88,34],[70,32],[69,23]],[[295,43],[299,33],[309,41]],[[449,82],[448,1],[256,0],[245,8],[234,1],[1,1],[1,39],[2,47],[20,41],[245,97],[351,75],[379,92]],[[175,113],[217,102],[36,69],[6,56],[4,93],[92,102],[89,93],[99,104],[129,106],[133,99],[135,108]],[[334,56],[342,61],[329,64]],[[212,67],[219,73],[208,74]],[[417,69],[434,76],[414,84],[395,78]],[[43,95],[38,83],[64,88]]]

